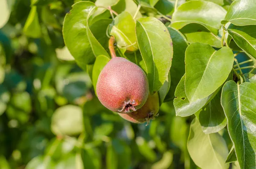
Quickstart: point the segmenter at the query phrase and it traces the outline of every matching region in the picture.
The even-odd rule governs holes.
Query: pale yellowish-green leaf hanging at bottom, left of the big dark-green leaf
[[[201,169],[227,169],[225,159],[228,149],[225,140],[218,133],[204,134],[195,118],[190,126],[187,143],[189,155]]]

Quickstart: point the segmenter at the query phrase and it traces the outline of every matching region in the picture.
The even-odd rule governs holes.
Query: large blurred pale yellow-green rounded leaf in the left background
[[[51,128],[55,135],[79,135],[84,131],[82,109],[73,105],[56,109],[52,115]]]

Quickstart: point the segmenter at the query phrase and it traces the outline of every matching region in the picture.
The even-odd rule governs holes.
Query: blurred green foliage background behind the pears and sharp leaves
[[[77,1],[0,0],[0,169],[197,169],[172,101],[148,126],[99,103],[62,37]]]

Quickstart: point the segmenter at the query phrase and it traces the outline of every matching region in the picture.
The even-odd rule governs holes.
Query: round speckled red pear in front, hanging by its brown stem
[[[97,81],[99,101],[113,112],[140,109],[148,98],[148,79],[143,70],[123,57],[113,57]]]

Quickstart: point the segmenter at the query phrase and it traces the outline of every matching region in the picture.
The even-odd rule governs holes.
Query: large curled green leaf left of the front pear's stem
[[[95,57],[108,53],[90,31],[88,19],[96,10],[94,3],[81,1],[73,5],[66,14],[63,23],[64,42],[76,63],[86,70],[86,65],[93,63]]]

